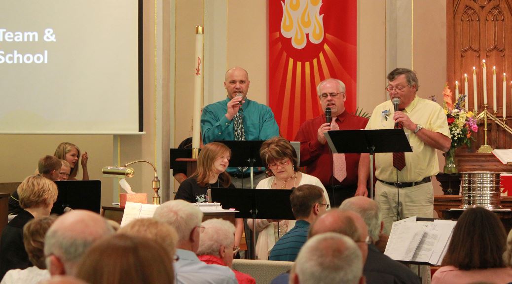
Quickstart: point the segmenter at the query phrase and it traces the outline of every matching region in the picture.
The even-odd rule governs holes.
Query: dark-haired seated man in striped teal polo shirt
[[[304,184],[290,195],[295,226],[275,243],[269,260],[295,261],[298,251],[308,239],[309,225],[329,209],[324,190],[316,185]]]

